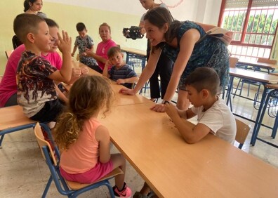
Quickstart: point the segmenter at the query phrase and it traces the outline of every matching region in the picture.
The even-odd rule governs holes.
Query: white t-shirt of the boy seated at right
[[[197,114],[198,123],[204,124],[211,128],[214,135],[234,144],[234,138],[237,133],[237,124],[234,115],[227,107],[224,100],[218,97],[209,110],[203,112],[204,107],[192,107],[192,112]]]

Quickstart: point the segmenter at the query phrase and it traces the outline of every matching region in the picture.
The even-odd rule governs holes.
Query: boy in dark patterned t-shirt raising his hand
[[[43,18],[20,14],[13,22],[13,30],[25,44],[16,74],[18,104],[30,119],[55,121],[62,112],[62,103],[58,100],[54,81],[67,83],[71,78],[72,39],[67,32],[62,31],[62,37],[58,33],[58,48],[62,52],[62,68],[59,71],[40,56],[41,51],[49,51],[51,44],[48,25]]]

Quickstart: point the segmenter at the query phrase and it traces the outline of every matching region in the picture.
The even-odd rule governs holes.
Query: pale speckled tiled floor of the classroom
[[[246,95],[246,93],[243,93]],[[145,96],[149,98],[148,93]],[[251,93],[253,97],[253,92]],[[254,110],[253,103],[244,98],[236,97],[232,100],[234,112],[254,119],[257,110]],[[253,123],[246,121],[251,127]],[[265,116],[264,123],[273,125],[274,119]],[[251,131],[253,128],[251,128]],[[262,127],[259,136],[270,140],[278,145],[278,138],[270,138],[270,129]],[[251,133],[244,144],[242,150],[249,152],[278,168],[278,150],[270,145],[256,142],[254,147],[249,146]],[[0,149],[0,197],[41,197],[50,175],[46,163],[41,157],[41,152],[34,138],[32,129],[10,133],[5,136],[3,147]],[[117,152],[113,147],[113,152]],[[237,159],[234,159],[237,160]],[[114,183],[114,180],[111,180]],[[126,183],[135,192],[143,186],[143,179],[136,173],[133,167],[128,164],[126,173]],[[62,197],[51,185],[47,197]],[[105,187],[91,190],[81,194],[80,197],[110,197]]]

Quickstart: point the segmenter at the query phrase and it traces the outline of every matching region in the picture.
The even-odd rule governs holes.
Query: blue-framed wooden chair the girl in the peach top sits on
[[[48,134],[48,138],[53,144],[53,150],[51,149],[50,143],[44,140],[44,135],[41,131],[41,127],[44,128],[44,131],[46,131],[46,133]],[[114,169],[111,173],[107,174],[107,176],[101,178],[95,183],[82,184],[82,183],[67,181],[64,178],[62,178],[62,176],[60,175],[60,169],[59,169],[60,152],[58,150],[58,147],[55,145],[53,141],[53,138],[51,136],[51,131],[48,128],[48,126],[46,126],[45,124],[37,123],[36,126],[34,127],[34,134],[37,138],[37,142],[41,149],[41,154],[44,157],[46,164],[48,165],[49,171],[51,171],[51,176],[48,179],[48,183],[46,184],[44,194],[42,194],[41,197],[46,197],[46,194],[48,192],[48,189],[52,181],[54,181],[58,192],[60,192],[60,194],[62,195],[66,195],[67,197],[77,197],[79,194],[83,192],[92,190],[102,185],[107,186],[110,192],[110,196],[114,197],[112,185],[110,185],[109,180],[111,178],[114,178],[114,176],[122,174],[123,171],[121,171],[121,169],[119,168]]]

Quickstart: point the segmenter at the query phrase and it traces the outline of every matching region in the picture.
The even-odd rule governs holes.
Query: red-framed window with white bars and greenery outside
[[[234,32],[228,46],[245,60],[270,58],[278,22],[278,0],[223,0],[218,26]]]

